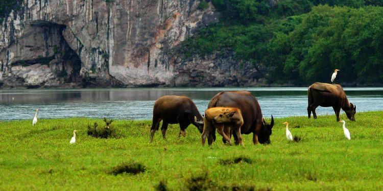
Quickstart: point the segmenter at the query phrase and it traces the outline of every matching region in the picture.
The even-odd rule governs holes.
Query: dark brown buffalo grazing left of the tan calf
[[[180,133],[183,137],[186,136],[186,127],[192,123],[202,133],[203,125],[196,123],[202,121],[203,117],[198,112],[196,104],[192,99],[185,96],[162,96],[156,100],[153,107],[153,123],[150,128],[150,142],[153,141],[154,133],[158,130],[159,123],[162,120],[162,137],[165,139],[167,125],[180,124]]]

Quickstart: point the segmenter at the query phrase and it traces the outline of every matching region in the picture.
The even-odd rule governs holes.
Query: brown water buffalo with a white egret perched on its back
[[[314,119],[317,119],[315,108],[318,106],[332,107],[339,121],[339,113],[342,110],[346,113],[347,118],[355,121],[356,106],[348,102],[347,96],[340,85],[332,85],[316,82],[308,87],[308,118],[313,112]]]

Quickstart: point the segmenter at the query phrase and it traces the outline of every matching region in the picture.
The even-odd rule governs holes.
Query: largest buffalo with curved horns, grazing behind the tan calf
[[[268,124],[262,117],[259,103],[257,99],[248,91],[224,91],[220,92],[211,98],[208,108],[211,107],[237,107],[242,112],[244,124],[241,126],[242,134],[253,133],[254,144],[268,144],[270,143],[271,129],[274,126],[274,118],[271,116],[271,123]],[[225,134],[230,135],[230,129],[225,128]],[[240,144],[240,140],[235,133],[233,133],[235,144]],[[208,137],[208,144],[216,139],[216,129],[210,131]],[[226,140],[223,140],[226,142]]]

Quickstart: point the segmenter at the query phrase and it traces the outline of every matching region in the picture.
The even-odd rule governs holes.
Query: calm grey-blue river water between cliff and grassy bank
[[[0,120],[39,118],[151,119],[154,101],[163,95],[185,95],[203,113],[220,91],[248,90],[257,97],[265,117],[306,116],[307,88],[171,88],[0,90]],[[357,112],[383,110],[383,88],[345,88]],[[342,111],[343,112],[343,111]],[[318,107],[317,114],[333,114]]]

